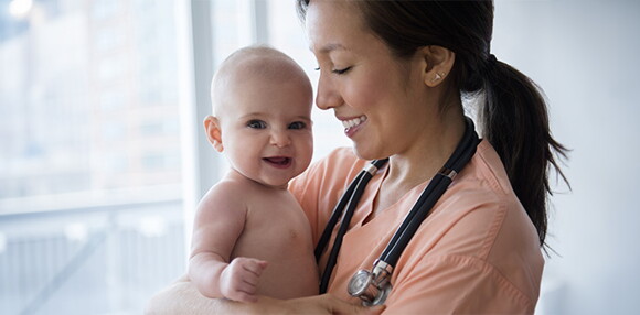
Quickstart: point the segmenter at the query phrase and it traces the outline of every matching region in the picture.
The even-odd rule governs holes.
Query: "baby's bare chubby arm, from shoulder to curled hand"
[[[236,185],[222,182],[206,193],[193,226],[189,276],[206,297],[255,302],[258,279],[267,262],[236,258],[230,262],[243,231],[246,206]]]

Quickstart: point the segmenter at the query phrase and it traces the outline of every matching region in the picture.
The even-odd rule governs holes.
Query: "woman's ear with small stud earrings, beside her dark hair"
[[[454,68],[456,53],[442,46],[425,46],[419,50],[425,61],[423,82],[429,87],[440,85]]]

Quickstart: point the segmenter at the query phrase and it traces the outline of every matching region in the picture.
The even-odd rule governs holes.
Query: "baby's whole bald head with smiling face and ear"
[[[220,66],[211,95],[214,115],[204,128],[234,171],[286,187],[309,166],[313,95],[294,59],[269,47],[238,50]]]

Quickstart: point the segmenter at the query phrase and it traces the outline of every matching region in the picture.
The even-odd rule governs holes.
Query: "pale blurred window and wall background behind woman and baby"
[[[495,3],[492,52],[544,89],[573,150],[537,314],[636,313],[639,18],[633,0]],[[202,132],[209,84],[254,43],[317,82],[291,0],[0,0],[2,314],[140,314],[184,271],[226,167]],[[313,119],[316,160],[350,144]]]

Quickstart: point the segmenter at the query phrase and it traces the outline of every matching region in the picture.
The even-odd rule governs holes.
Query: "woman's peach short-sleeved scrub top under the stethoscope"
[[[298,198],[318,242],[346,186],[367,164],[342,148],[295,178]],[[366,224],[387,166],[369,183],[344,236],[328,292],[346,293],[351,276],[371,270],[425,182]],[[319,262],[324,270],[333,236]],[[511,188],[491,144],[482,140],[409,241],[391,278],[387,314],[533,314],[544,265],[535,227]]]

